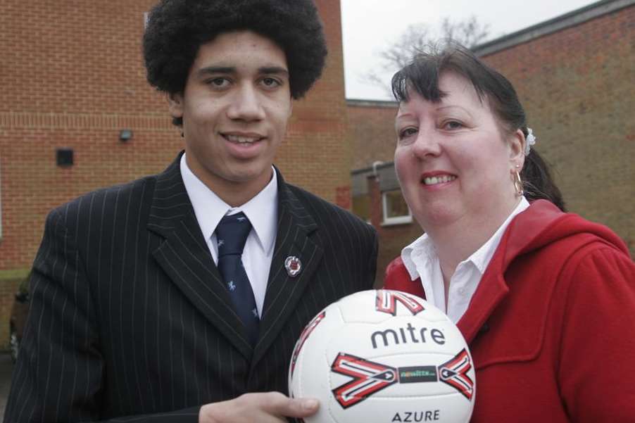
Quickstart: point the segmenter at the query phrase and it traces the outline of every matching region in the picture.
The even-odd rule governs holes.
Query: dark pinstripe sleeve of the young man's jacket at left
[[[94,298],[67,214],[49,214],[4,422],[86,422],[102,416],[105,363]],[[113,422],[198,422],[199,407]]]

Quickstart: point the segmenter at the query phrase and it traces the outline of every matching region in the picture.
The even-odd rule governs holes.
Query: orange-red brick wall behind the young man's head
[[[153,0],[0,3],[0,346],[18,281],[51,208],[160,172],[183,148],[163,95],[145,80],[144,12]],[[285,179],[350,206],[339,0],[317,0],[329,56],[322,80],[294,105],[276,163]],[[119,132],[134,132],[127,143]],[[70,147],[75,165],[56,165]],[[2,282],[2,281],[5,282]]]

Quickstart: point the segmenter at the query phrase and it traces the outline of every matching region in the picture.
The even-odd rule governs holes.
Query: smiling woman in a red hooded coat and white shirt
[[[510,82],[450,46],[392,87],[396,172],[425,234],[385,287],[458,324],[472,422],[635,422],[635,265],[608,228],[562,212]]]

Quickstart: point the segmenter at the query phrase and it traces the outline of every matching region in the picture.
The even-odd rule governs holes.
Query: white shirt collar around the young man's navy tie
[[[211,239],[223,216],[243,212],[251,222],[253,231],[256,232],[260,248],[263,248],[265,253],[271,251],[275,243],[278,215],[278,182],[273,166],[269,184],[251,200],[235,208],[222,201],[214,191],[191,172],[185,161],[185,154],[181,157],[180,166],[187,195],[206,240]]]

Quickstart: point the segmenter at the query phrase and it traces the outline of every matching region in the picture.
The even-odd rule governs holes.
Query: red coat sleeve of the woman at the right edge
[[[635,264],[606,246],[573,267],[557,368],[565,408],[572,422],[635,422]]]

